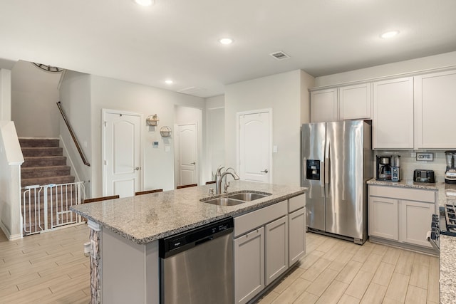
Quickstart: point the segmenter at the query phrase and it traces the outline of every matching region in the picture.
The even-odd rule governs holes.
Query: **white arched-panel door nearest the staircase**
[[[140,115],[103,110],[103,196],[140,191]]]

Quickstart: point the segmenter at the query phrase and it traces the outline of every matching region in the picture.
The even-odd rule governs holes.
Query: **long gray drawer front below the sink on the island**
[[[234,218],[234,237],[264,226],[287,214],[287,201],[267,206]]]

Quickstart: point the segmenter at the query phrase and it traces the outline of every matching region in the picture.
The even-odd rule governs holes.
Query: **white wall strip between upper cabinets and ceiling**
[[[443,53],[435,56],[400,61],[377,65],[371,68],[351,70],[344,73],[325,75],[315,78],[315,86],[337,85],[339,83],[350,83],[353,81],[370,80],[372,78],[388,77],[403,73],[415,73],[435,68],[456,67],[456,51]]]

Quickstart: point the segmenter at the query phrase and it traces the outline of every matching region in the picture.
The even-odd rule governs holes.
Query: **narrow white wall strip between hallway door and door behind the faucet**
[[[224,95],[206,98],[207,112],[207,181],[215,179],[215,172],[225,163],[225,99]]]

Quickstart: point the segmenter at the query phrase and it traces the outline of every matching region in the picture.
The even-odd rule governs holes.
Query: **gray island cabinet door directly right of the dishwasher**
[[[264,288],[264,227],[234,239],[234,297],[247,303]]]

